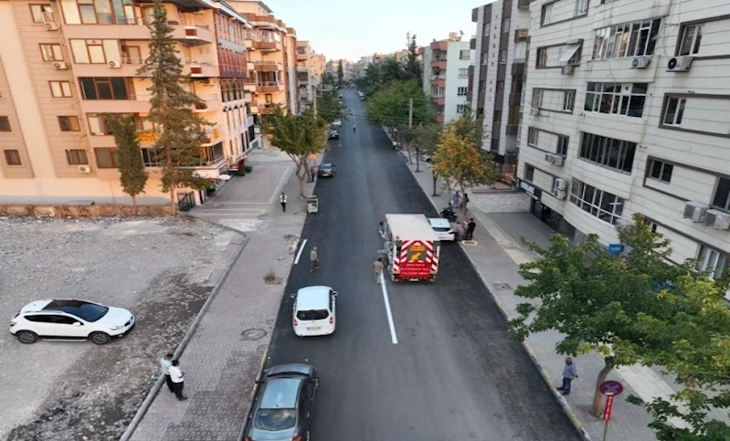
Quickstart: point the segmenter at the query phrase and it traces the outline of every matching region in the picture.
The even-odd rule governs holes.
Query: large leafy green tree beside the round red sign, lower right
[[[692,262],[672,265],[670,242],[652,232],[642,215],[633,220],[633,226],[619,232],[630,250],[623,258],[610,255],[597,236],[577,247],[557,234],[550,237],[548,248],[527,244],[539,258],[520,266],[528,284],[515,294],[532,301],[517,307],[519,316],[511,320],[515,337],[556,330],[563,334],[556,352],[602,354],[604,367],[593,404],[596,416],[602,404],[598,385],[615,366],[641,363],[676,373],[687,387],[674,398],[689,410],[682,414],[663,400],[649,404],[655,417],[651,427],[660,439],[727,439],[726,425],[704,417],[713,406],[728,407],[730,394],[702,392],[730,379],[730,312],[722,295],[726,283],[723,288],[698,274]],[[691,428],[666,424],[670,416],[682,417]],[[710,432],[725,437],[689,436]]]

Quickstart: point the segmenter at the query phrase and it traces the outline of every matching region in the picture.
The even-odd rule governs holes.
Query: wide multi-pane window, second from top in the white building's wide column
[[[640,118],[649,83],[588,83],[584,110]]]

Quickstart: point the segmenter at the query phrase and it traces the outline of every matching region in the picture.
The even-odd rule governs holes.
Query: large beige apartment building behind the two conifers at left
[[[191,169],[213,182],[238,167],[251,146],[245,100],[249,20],[225,3],[164,4],[168,24],[214,124]],[[143,204],[166,204],[154,163],[156,131],[145,120],[151,80],[137,70],[149,54],[151,4],[132,0],[0,2],[0,194],[5,203],[128,204],[104,113],[134,115],[150,180]],[[201,202],[205,194],[181,192]]]

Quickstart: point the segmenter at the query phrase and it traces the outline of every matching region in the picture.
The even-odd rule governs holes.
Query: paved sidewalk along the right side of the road
[[[401,155],[407,163],[407,155]],[[449,204],[449,194],[438,185],[438,196],[433,196],[433,181],[428,163],[421,163],[421,172],[416,173],[416,165],[407,163],[416,177],[418,184],[428,194],[433,205],[440,211]],[[534,215],[528,213],[529,199],[520,193],[505,194],[471,194],[469,217],[477,223],[474,234],[476,242],[473,246],[462,244],[462,249],[470,258],[487,288],[503,310],[503,314],[512,319],[517,317],[516,307],[527,299],[514,295],[514,289],[524,283],[518,274],[519,264],[531,261],[534,254],[520,242],[521,237],[547,245],[547,237],[555,231],[546,226]],[[521,203],[522,202],[522,207]],[[481,208],[488,208],[492,213],[485,213]],[[499,213],[503,211],[504,213]],[[460,220],[463,214],[458,210]],[[557,331],[548,331],[530,336],[525,341],[525,349],[530,353],[534,363],[545,377],[545,382],[553,387],[562,381],[564,356],[555,353],[555,343],[560,340]],[[498,355],[498,354],[497,354]],[[557,391],[555,399],[559,400],[577,429],[586,439],[600,440],[603,437],[605,422],[590,414],[593,403],[593,391],[598,372],[603,367],[603,360],[597,353],[589,353],[574,358],[579,377],[573,382],[571,394],[563,396]],[[651,417],[640,406],[629,404],[629,394],[650,399],[651,396],[667,396],[672,394],[672,387],[665,383],[660,375],[643,367],[619,369],[608,374],[608,380],[623,383],[625,391],[614,399],[611,420],[608,425],[610,440],[646,441],[656,439],[648,427]],[[519,381],[519,379],[515,379]]]

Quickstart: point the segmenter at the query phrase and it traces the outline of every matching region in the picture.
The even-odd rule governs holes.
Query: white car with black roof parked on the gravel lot
[[[86,300],[36,300],[13,320],[10,333],[23,343],[38,339],[87,340],[106,344],[134,326],[132,312]]]

